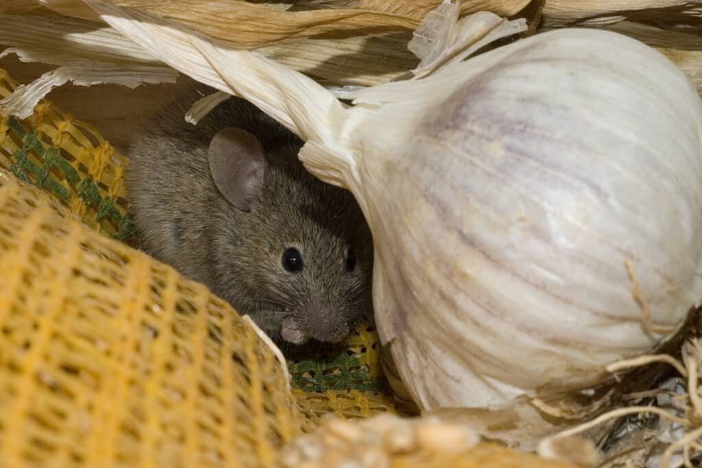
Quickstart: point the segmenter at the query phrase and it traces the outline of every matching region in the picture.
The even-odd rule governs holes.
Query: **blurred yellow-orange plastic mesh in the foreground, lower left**
[[[198,283],[0,173],[0,464],[273,467],[284,368]]]

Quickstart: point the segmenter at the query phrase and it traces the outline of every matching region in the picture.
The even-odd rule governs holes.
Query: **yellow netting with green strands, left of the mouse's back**
[[[0,69],[0,99],[18,83]],[[42,101],[26,122],[0,116],[0,167],[44,189],[98,232],[126,239],[126,159],[95,128]]]

